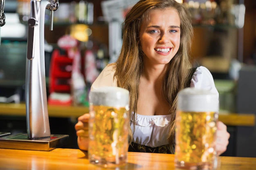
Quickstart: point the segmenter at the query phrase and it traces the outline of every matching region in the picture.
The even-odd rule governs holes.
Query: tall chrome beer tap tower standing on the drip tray
[[[44,22],[45,9],[51,11],[50,30],[53,30],[53,13],[58,0],[31,0],[28,20],[26,63],[26,116],[29,139],[50,137],[45,83]]]

